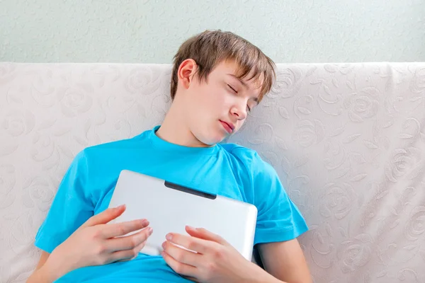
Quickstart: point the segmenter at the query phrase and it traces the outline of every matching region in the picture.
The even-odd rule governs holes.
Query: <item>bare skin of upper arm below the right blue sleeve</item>
[[[312,278],[297,239],[259,244],[265,270],[274,277],[290,283],[311,283]]]

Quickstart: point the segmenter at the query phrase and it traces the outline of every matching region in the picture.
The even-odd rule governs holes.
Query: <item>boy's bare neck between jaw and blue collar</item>
[[[189,147],[208,147],[208,144],[204,144],[198,140],[191,130],[187,127],[185,116],[179,107],[179,101],[174,100],[171,104],[171,108],[166,113],[164,122],[161,127],[157,130],[157,137],[168,141],[171,144],[178,144],[180,146]]]

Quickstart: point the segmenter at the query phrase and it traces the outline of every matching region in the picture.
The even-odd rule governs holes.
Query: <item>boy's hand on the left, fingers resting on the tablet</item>
[[[124,211],[125,205],[121,205],[91,216],[66,241],[53,250],[46,265],[56,270],[60,269],[64,275],[79,267],[106,265],[135,258],[152,234],[152,227],[147,227],[149,221],[146,219],[107,224]],[[145,227],[147,228],[143,229]],[[143,230],[124,236],[140,229]]]

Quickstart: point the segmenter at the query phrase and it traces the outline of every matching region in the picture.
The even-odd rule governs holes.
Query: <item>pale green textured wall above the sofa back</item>
[[[0,0],[0,61],[169,63],[207,28],[276,62],[425,61],[425,0]]]

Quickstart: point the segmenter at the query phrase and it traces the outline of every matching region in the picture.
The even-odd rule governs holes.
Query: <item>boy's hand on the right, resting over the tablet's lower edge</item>
[[[195,282],[254,282],[261,277],[263,270],[220,236],[189,226],[186,231],[190,236],[167,234],[162,245],[162,257],[175,272]]]

